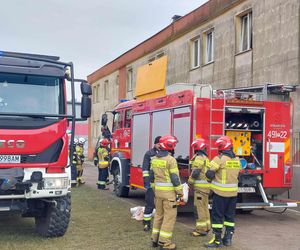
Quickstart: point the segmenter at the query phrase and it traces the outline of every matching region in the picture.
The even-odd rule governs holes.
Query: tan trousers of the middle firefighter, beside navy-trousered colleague
[[[196,208],[196,231],[206,233],[210,230],[210,214],[208,210],[208,194],[201,191],[194,193],[194,206]]]

